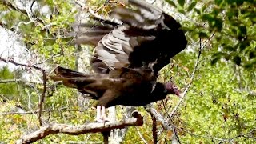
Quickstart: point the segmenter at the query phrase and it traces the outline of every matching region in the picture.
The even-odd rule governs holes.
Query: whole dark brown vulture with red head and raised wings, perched
[[[96,74],[82,74],[58,67],[54,81],[76,88],[98,100],[96,121],[106,118],[105,106],[143,106],[178,95],[172,82],[157,82],[158,71],[185,49],[181,25],[158,7],[139,0],[137,7],[115,8],[110,17],[118,22],[93,18],[98,24],[77,24],[75,43],[95,47],[91,58]]]

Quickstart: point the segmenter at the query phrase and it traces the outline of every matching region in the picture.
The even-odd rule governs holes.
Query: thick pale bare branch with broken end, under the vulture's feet
[[[86,134],[86,133],[98,133],[102,131],[109,131],[113,129],[123,129],[126,126],[142,126],[143,118],[140,114],[134,114],[134,118],[125,119],[122,122],[106,122],[106,123],[89,123],[85,125],[66,125],[66,124],[50,124],[42,126],[40,130],[35,131],[32,134],[24,135],[17,143],[31,143],[36,142],[39,139],[45,138],[50,134]]]

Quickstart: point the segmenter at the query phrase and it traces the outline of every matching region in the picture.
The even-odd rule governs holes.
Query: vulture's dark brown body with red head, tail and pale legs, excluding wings
[[[178,88],[171,82],[162,84],[155,81],[152,70],[115,69],[109,74],[82,74],[58,67],[54,70],[54,81],[62,81],[65,86],[78,89],[86,98],[98,100],[97,122],[106,121],[105,107],[146,106],[166,98],[167,94],[179,95]]]

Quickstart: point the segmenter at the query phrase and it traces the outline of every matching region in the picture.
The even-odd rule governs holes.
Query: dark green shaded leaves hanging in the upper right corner
[[[167,2],[170,2],[167,0]],[[255,1],[183,1],[172,6],[178,12],[192,18],[184,23],[190,38],[212,38],[212,64],[220,58],[234,62],[246,69],[255,68],[256,64],[256,14]],[[192,17],[191,17],[192,16]]]

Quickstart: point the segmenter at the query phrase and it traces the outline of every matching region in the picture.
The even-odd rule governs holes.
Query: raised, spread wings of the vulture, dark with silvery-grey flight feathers
[[[116,8],[111,18],[99,25],[79,25],[75,40],[95,47],[91,66],[98,73],[126,68],[148,68],[157,75],[170,58],[185,49],[187,41],[181,25],[158,7],[139,0],[129,0],[137,9]]]

